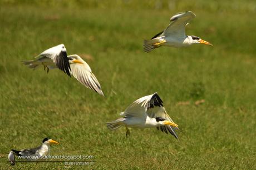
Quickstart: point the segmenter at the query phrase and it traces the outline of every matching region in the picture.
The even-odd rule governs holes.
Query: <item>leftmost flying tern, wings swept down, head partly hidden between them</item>
[[[91,71],[90,66],[77,54],[66,56],[66,48],[63,44],[47,49],[34,60],[23,61],[29,68],[36,69],[38,66],[49,69],[60,68],[63,72],[73,75],[85,87],[104,96],[97,78]]]

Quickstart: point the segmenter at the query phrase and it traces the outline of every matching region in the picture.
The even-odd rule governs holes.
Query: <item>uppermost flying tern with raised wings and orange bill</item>
[[[187,47],[191,44],[198,43],[213,46],[199,37],[186,36],[185,26],[188,25],[194,17],[195,14],[191,11],[175,14],[175,16],[170,18],[171,23],[164,31],[156,34],[151,39],[144,40],[144,51],[150,52],[161,46]]]

